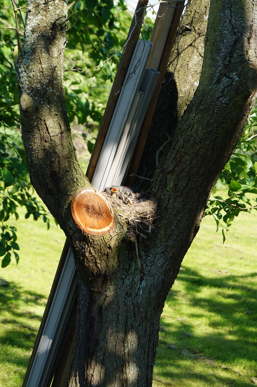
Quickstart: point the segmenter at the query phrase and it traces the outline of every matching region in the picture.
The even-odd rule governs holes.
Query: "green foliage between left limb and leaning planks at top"
[[[70,9],[64,87],[69,122],[100,125],[132,20],[123,3],[80,0]],[[77,70],[77,71],[71,71]],[[89,151],[91,147],[88,147]]]

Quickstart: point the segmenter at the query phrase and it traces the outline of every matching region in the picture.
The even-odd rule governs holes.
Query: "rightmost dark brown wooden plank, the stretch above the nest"
[[[176,33],[178,30],[178,26],[179,26],[179,20],[181,18],[181,15],[182,15],[182,12],[184,9],[184,3],[185,3],[185,1],[181,1],[181,2],[176,3],[176,9],[175,9],[174,15],[172,17],[171,27],[169,29],[169,33],[168,33],[168,36],[166,38],[164,49],[163,49],[163,52],[161,55],[161,61],[160,61],[159,66],[158,66],[158,71],[160,72],[160,75],[159,75],[159,78],[157,80],[157,84],[156,84],[156,87],[154,89],[150,104],[148,106],[147,113],[146,113],[145,118],[144,118],[144,122],[142,123],[139,138],[137,140],[137,145],[136,145],[135,151],[134,151],[134,156],[132,158],[132,162],[131,162],[130,168],[128,170],[128,175],[127,175],[127,178],[125,180],[125,185],[128,185],[129,187],[132,187],[134,185],[135,176],[130,176],[130,175],[137,174],[137,171],[139,168],[141,156],[142,156],[142,153],[144,151],[145,142],[146,142],[149,128],[150,128],[150,125],[152,122],[152,117],[154,115],[154,110],[156,108],[156,104],[158,101],[159,92],[161,90],[162,82],[163,82],[164,75],[166,72],[166,68],[167,68],[167,65],[169,63],[169,57],[171,54],[172,46],[173,46],[175,38],[176,38]],[[156,31],[159,31],[159,29],[156,29]]]

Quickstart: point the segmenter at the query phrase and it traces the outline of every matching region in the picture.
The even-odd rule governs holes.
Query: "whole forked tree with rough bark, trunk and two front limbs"
[[[257,4],[211,1],[209,15],[207,4],[191,1],[188,7],[197,5],[193,22],[199,9],[208,17],[201,77],[186,104],[178,94],[172,139],[158,152],[151,176],[158,224],[136,245],[118,214],[102,235],[83,233],[74,222],[71,200],[90,183],[76,158],[62,86],[69,6],[27,2],[24,43],[15,62],[22,139],[31,182],[64,230],[78,270],[69,386],[152,384],[164,301],[255,101]],[[197,80],[189,89],[192,82]],[[160,99],[162,116],[170,110],[169,98]]]

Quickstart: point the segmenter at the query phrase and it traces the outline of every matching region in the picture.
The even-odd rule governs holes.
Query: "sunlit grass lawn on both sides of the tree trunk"
[[[65,240],[54,222],[16,226],[19,265],[0,269],[0,387],[22,385]],[[257,384],[257,212],[240,214],[224,245],[215,226],[203,220],[169,292],[154,387]]]

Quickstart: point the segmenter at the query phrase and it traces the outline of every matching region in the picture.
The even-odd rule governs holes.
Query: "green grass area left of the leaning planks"
[[[10,223],[10,222],[9,222]],[[17,222],[20,261],[13,258],[0,277],[0,387],[20,387],[44,313],[65,237],[54,221]]]

